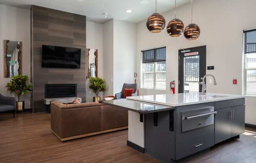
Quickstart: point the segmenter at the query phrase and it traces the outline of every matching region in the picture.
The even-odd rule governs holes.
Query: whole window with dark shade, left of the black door
[[[166,89],[166,47],[142,51],[142,88]]]

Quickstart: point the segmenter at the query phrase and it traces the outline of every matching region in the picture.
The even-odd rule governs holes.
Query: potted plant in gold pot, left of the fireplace
[[[31,92],[31,83],[27,83],[29,78],[27,75],[16,75],[11,78],[11,81],[6,84],[7,91],[14,92],[18,96],[16,101],[16,109],[24,109],[24,101],[20,101],[20,96]]]

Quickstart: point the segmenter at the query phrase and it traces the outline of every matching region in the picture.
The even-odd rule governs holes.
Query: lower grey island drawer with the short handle
[[[179,141],[176,144],[176,157],[175,159],[181,159],[190,154],[194,154],[201,150],[207,149],[214,145],[214,133],[210,132],[205,135],[187,139],[186,141]]]

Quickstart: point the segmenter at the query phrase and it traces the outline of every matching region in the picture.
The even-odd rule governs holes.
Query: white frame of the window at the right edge
[[[249,70],[255,70],[256,71],[256,68],[247,68],[247,54],[250,54],[250,53],[247,53],[247,45],[246,45],[246,42],[247,42],[247,36],[246,36],[246,33],[248,32],[252,32],[252,31],[256,31],[256,28],[252,28],[252,29],[246,29],[246,30],[243,30],[243,73],[244,73],[244,84],[243,84],[243,87],[244,87],[244,93],[245,95],[255,95],[256,96],[256,92],[250,92],[248,93],[247,92],[247,71]],[[253,51],[252,53],[255,53],[255,51]]]

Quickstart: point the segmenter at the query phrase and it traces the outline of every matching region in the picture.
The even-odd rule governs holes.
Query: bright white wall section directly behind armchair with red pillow
[[[114,80],[113,94],[124,83],[134,83],[136,67],[136,24],[114,20]]]

